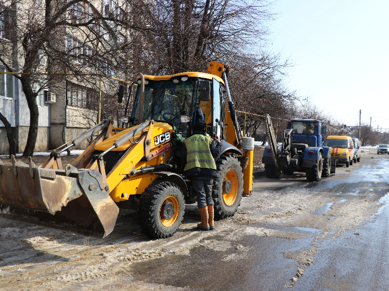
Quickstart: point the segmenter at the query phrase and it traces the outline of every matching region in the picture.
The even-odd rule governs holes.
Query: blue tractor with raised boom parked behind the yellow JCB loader
[[[323,146],[326,126],[317,119],[294,118],[283,132],[282,145],[278,145],[271,118],[267,114],[265,147],[262,162],[268,178],[280,178],[281,172],[292,175],[305,172],[308,181],[319,181],[335,173],[336,161],[331,163],[330,147]]]

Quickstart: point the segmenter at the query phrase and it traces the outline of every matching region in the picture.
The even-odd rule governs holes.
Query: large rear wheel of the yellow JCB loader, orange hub
[[[238,210],[242,199],[242,167],[234,155],[226,154],[217,160],[216,171],[217,177],[213,179],[212,188],[215,216],[230,217]]]

